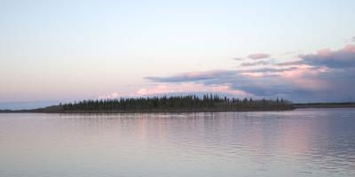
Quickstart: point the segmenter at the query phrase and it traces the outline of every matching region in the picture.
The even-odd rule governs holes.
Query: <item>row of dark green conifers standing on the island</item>
[[[116,98],[83,100],[80,102],[59,104],[62,111],[144,111],[144,110],[248,110],[248,109],[292,109],[291,102],[276,100],[254,100],[217,95],[204,96],[154,96],[135,98]]]

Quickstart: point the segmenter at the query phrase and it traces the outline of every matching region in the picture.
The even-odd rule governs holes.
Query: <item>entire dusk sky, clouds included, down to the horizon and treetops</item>
[[[354,9],[352,0],[0,0],[0,103],[197,92],[355,101]]]

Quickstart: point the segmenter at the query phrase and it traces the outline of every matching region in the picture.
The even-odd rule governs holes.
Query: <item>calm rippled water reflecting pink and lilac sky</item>
[[[0,114],[0,176],[355,176],[355,109]]]

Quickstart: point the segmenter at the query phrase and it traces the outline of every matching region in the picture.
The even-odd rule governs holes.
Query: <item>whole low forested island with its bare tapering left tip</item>
[[[84,100],[16,112],[110,113],[110,112],[248,112],[286,111],[294,105],[283,99],[254,100],[217,95],[154,96],[102,100]],[[8,111],[11,112],[11,111]]]

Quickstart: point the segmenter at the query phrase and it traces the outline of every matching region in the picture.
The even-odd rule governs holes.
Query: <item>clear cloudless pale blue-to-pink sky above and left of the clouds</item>
[[[130,94],[161,84],[146,77],[233,70],[253,53],[285,62],[340,50],[354,10],[352,0],[1,0],[0,102]]]

